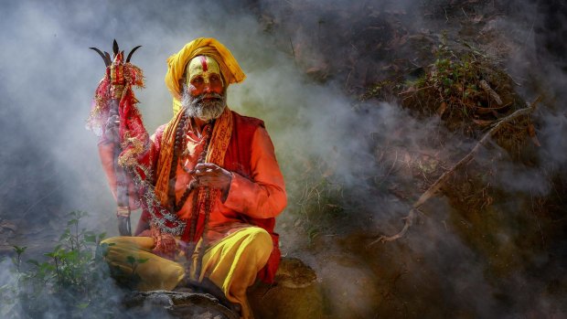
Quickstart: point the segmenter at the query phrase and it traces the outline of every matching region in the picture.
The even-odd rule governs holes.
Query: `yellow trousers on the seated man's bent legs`
[[[140,291],[172,290],[185,277],[183,265],[151,252],[154,240],[150,237],[112,237],[102,243],[110,245],[106,261],[111,266],[139,276],[136,289]],[[243,318],[252,318],[246,289],[255,282],[256,274],[268,261],[272,249],[272,238],[264,229],[237,230],[205,251],[199,281],[208,277],[231,303],[241,304]],[[197,252],[193,255],[193,270],[196,263]],[[191,277],[196,277],[195,273]]]

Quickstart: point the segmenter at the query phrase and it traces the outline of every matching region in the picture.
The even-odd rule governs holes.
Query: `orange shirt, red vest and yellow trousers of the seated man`
[[[273,280],[280,259],[277,234],[273,232],[274,218],[282,212],[287,199],[283,175],[262,121],[235,112],[232,112],[232,116],[235,122],[233,140],[223,165],[232,175],[230,189],[226,198],[217,198],[212,206],[206,234],[209,249],[203,258],[203,269],[200,274],[191,276],[200,279],[203,276],[209,277],[231,302],[241,303],[242,316],[250,318],[252,314],[246,299],[246,288],[254,282],[257,275],[266,282]],[[164,128],[165,126],[161,126],[152,136],[148,154],[155,172]],[[203,147],[204,141],[190,127],[187,130],[187,151],[181,156],[176,168],[176,202],[182,197],[192,178],[184,168],[190,170],[197,165]],[[99,148],[112,193],[115,194],[116,182],[110,160],[112,145],[101,143]],[[177,217],[187,220],[187,224],[192,212],[193,196],[195,195],[187,198],[177,212]],[[149,212],[143,213],[136,235],[148,226],[150,218]],[[187,235],[188,228],[189,225],[184,236]],[[125,256],[147,260],[136,268],[143,280],[138,289],[173,289],[186,275],[181,264],[151,253],[154,245],[152,238],[120,237],[105,239],[103,242],[112,243],[107,260],[125,273],[134,271],[125,262]],[[197,262],[196,255],[193,255],[194,264]]]

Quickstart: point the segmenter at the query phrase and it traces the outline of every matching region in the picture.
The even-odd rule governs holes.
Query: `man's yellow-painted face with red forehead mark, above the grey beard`
[[[192,96],[203,93],[222,93],[224,83],[220,76],[219,63],[214,58],[198,56],[192,58],[185,70],[187,74],[187,87]]]

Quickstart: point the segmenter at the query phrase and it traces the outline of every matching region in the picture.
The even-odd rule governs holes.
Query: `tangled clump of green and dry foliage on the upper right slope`
[[[401,102],[426,116],[441,117],[453,132],[474,137],[519,101],[513,81],[494,59],[467,43],[449,46],[446,35],[425,70],[405,83]]]

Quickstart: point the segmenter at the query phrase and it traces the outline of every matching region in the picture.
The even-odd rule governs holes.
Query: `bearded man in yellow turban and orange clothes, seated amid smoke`
[[[167,62],[175,115],[141,156],[151,168],[143,182],[151,186],[142,187],[136,236],[104,240],[106,259],[135,271],[143,291],[208,278],[249,318],[246,289],[257,278],[272,282],[280,260],[273,228],[286,205],[283,175],[263,122],[227,106],[229,85],[245,78],[227,48],[198,38]],[[99,147],[115,192],[112,142],[103,137]],[[191,254],[190,275],[184,254]]]

